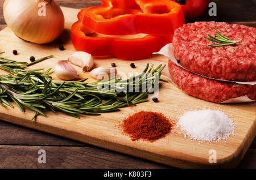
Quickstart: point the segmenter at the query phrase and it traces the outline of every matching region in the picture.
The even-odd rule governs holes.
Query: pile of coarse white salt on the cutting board
[[[220,110],[195,110],[184,113],[177,127],[191,139],[202,142],[220,141],[234,134],[233,120]]]

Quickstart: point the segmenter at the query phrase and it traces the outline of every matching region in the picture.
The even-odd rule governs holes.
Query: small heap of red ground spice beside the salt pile
[[[161,113],[141,111],[124,119],[122,127],[131,140],[154,142],[171,131],[172,123]]]

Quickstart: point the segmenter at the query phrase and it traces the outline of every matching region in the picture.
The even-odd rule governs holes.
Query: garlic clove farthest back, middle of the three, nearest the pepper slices
[[[92,55],[85,52],[73,53],[71,56],[69,56],[68,61],[73,65],[82,67],[83,72],[91,70],[94,65]]]

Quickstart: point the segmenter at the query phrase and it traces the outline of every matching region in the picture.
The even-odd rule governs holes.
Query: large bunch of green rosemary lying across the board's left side
[[[36,63],[47,58],[51,56],[38,59]],[[32,119],[39,114],[46,116],[46,109],[79,118],[79,114],[100,115],[146,102],[148,100],[145,98],[158,83],[165,67],[159,65],[153,69],[153,65],[150,68],[147,65],[142,74],[127,80],[114,77],[86,83],[86,79],[79,82],[55,81],[50,76],[51,68],[46,72],[40,72],[42,69],[26,70],[30,65],[0,58],[0,68],[10,72],[0,75],[0,105],[14,108],[10,103],[13,101],[22,112],[25,111],[24,107],[34,110]],[[152,84],[152,87],[147,84]]]

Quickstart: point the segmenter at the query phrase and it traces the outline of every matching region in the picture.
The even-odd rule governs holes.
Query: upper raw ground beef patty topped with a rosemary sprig
[[[216,35],[216,27],[236,45],[211,47],[205,39]],[[256,28],[220,22],[184,24],[174,33],[175,57],[187,70],[215,79],[249,82],[256,80]]]

